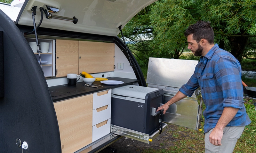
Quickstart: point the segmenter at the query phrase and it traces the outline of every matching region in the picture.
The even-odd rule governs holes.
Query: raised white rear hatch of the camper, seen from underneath
[[[47,5],[56,8],[50,12],[52,16],[64,18],[75,17],[78,19],[78,22],[74,24],[70,21],[56,18],[47,19],[44,13],[44,19],[40,27],[117,36],[120,32],[118,29],[120,25],[122,25],[123,28],[135,14],[155,1],[156,0],[26,0],[15,21],[19,25],[33,26],[31,9],[33,6],[37,6],[35,15],[37,25],[41,17],[39,8]],[[54,12],[56,10],[59,11]]]

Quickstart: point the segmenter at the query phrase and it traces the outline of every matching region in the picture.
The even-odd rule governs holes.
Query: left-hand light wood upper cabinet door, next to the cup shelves
[[[56,77],[66,77],[68,73],[79,74],[79,41],[56,40]]]

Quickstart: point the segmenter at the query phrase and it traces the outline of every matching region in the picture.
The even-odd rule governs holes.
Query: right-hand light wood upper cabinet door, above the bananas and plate
[[[114,71],[114,43],[79,41],[79,56],[79,73]]]

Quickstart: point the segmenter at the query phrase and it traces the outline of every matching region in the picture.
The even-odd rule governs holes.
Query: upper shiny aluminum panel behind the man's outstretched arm
[[[195,71],[198,61],[150,57],[147,84],[180,88]]]

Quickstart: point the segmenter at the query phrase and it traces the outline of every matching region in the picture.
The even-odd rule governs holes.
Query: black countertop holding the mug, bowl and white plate
[[[100,81],[94,81],[93,84],[102,85],[103,87],[93,88],[93,87],[82,86],[84,82],[78,82],[76,83],[76,85],[63,84],[63,85],[52,86],[52,87],[49,87],[49,90],[51,92],[52,101],[56,102],[60,100],[87,95],[94,92],[113,89],[113,88],[121,87],[128,84],[133,84],[140,81],[137,79],[126,79],[121,77],[110,77],[108,78],[108,80],[123,81],[124,83],[118,84],[118,85],[107,85],[107,84],[100,83]]]

